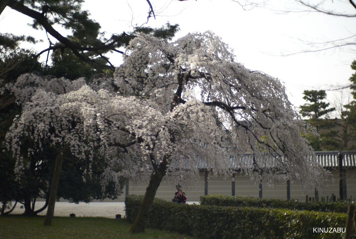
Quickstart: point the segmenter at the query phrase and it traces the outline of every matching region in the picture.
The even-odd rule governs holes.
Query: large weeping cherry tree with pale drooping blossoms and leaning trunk
[[[89,162],[99,149],[110,165],[103,186],[119,176],[148,176],[132,232],[144,231],[165,175],[193,180],[202,167],[214,175],[238,168],[258,181],[290,179],[304,190],[320,189],[327,174],[300,136],[305,124],[283,85],[234,58],[212,32],[172,43],[137,37],[111,80],[118,92],[110,79],[80,83],[80,89],[62,94],[38,89],[8,133],[17,166],[23,154],[19,139],[27,134],[35,142],[69,144],[72,154]],[[37,150],[40,144],[28,154]],[[243,160],[246,152],[251,161]]]

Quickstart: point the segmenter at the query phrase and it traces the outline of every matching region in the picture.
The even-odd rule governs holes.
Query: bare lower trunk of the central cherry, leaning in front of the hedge
[[[145,225],[150,212],[153,199],[155,198],[157,188],[161,183],[164,175],[166,175],[167,161],[164,160],[159,167],[152,172],[150,177],[150,182],[146,188],[145,197],[141,202],[140,208],[138,209],[138,214],[136,216],[135,222],[129,232],[132,233],[144,233]]]

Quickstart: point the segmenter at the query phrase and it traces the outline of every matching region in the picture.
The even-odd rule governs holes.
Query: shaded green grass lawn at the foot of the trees
[[[146,229],[145,233],[131,234],[131,224],[125,219],[101,217],[54,217],[52,226],[45,227],[45,217],[3,216],[0,217],[1,239],[194,239],[187,235]]]

